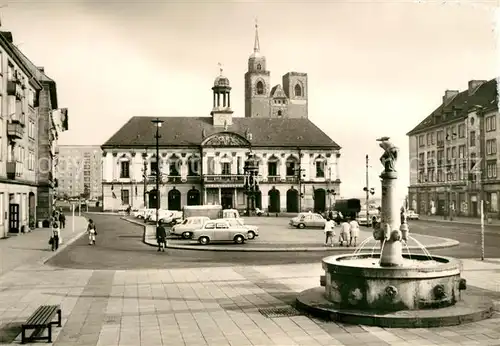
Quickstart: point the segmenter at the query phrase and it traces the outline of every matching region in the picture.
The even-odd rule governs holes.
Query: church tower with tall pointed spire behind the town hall
[[[269,92],[271,73],[266,70],[266,58],[260,54],[259,30],[255,23],[253,53],[248,58],[245,73],[245,117],[262,118],[270,116]]]

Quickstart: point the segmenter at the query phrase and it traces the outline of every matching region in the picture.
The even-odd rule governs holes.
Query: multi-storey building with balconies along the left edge
[[[19,232],[50,217],[55,82],[0,32],[0,233]],[[3,216],[5,215],[5,217]]]

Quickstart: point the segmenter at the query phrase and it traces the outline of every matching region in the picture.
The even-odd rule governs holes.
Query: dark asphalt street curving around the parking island
[[[88,245],[82,237],[53,257],[47,264],[75,269],[145,269],[145,268],[199,268],[205,266],[273,265],[314,263],[321,265],[325,252],[212,252],[156,248],[142,242],[143,227],[121,220],[115,215],[92,214],[90,217],[99,229],[97,244]],[[261,218],[261,223],[287,222],[283,218]],[[255,222],[254,222],[255,223]],[[369,230],[362,228],[362,230]],[[474,225],[411,221],[410,232],[451,238],[460,241],[459,246],[432,250],[432,254],[458,258],[479,258],[480,228]],[[258,242],[259,240],[256,240]],[[486,257],[500,257],[500,229],[489,227],[485,232]],[[351,253],[352,248],[346,249]],[[336,253],[337,254],[337,253]]]

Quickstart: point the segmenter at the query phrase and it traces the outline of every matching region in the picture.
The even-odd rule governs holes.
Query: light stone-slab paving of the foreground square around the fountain
[[[500,300],[500,263],[463,260],[469,285]],[[318,285],[321,264],[160,270],[26,265],[0,277],[0,326],[61,304],[54,345],[498,345],[500,316],[447,328],[343,325],[297,313],[265,317]],[[264,310],[263,310],[264,309]],[[293,309],[288,309],[293,310]],[[18,343],[19,336],[0,340]]]

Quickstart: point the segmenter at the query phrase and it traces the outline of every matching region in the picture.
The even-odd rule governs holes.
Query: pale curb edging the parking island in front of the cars
[[[130,220],[125,217],[121,218],[127,222],[132,224],[143,226],[143,222]],[[459,241],[449,238],[441,238],[441,237],[433,237],[427,236],[430,238],[440,239],[441,242],[438,244],[431,244],[429,246],[425,246],[427,250],[435,250],[435,249],[444,249],[448,247],[458,246],[460,244]],[[146,241],[146,227],[144,227],[144,232],[142,236],[142,242],[149,246],[158,246],[156,243],[151,244]],[[290,244],[291,245],[291,244]],[[180,245],[180,244],[167,244],[167,248],[169,249],[177,249],[177,250],[192,250],[192,251],[224,251],[224,252],[345,252],[345,247],[325,247],[325,246],[298,246],[294,247],[234,247],[234,246],[198,246],[198,245]],[[418,246],[409,246],[410,250],[420,249]]]

